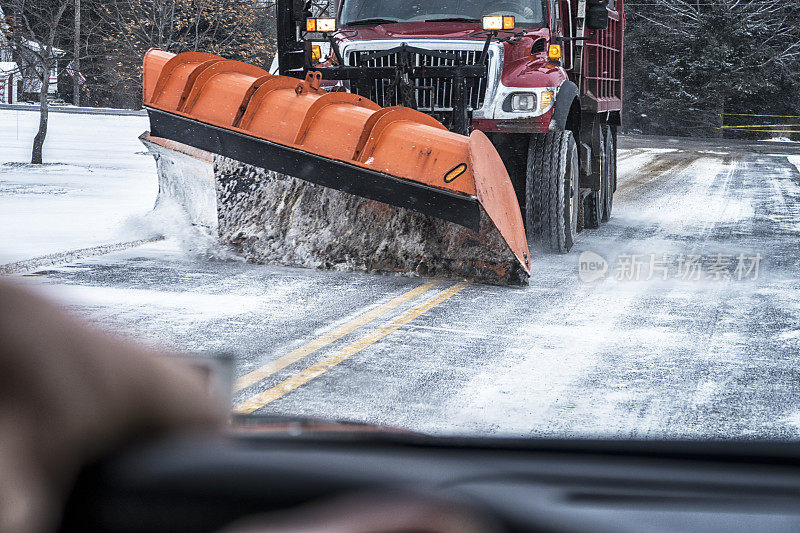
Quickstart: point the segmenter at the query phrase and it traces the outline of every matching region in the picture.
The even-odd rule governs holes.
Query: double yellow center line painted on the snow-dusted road
[[[245,387],[248,387],[265,377],[268,377],[278,370],[286,367],[287,365],[298,361],[305,357],[306,355],[319,350],[320,348],[331,344],[337,339],[347,335],[348,333],[354,331],[355,329],[375,320],[381,315],[388,313],[391,309],[401,305],[404,302],[412,300],[419,296],[420,294],[426,292],[427,290],[435,287],[438,285],[438,282],[430,282],[425,283],[424,285],[420,285],[419,287],[415,288],[412,291],[409,291],[397,298],[369,311],[360,317],[356,318],[355,320],[348,322],[347,324],[341,326],[340,328],[331,331],[330,333],[319,337],[310,343],[294,350],[285,356],[276,359],[275,361],[271,362],[270,364],[255,370],[242,378],[240,378],[236,383],[236,390],[242,390]],[[469,283],[456,283],[452,287],[445,289],[432,298],[428,299],[426,302],[415,306],[405,313],[401,314],[397,318],[390,320],[386,324],[382,325],[372,333],[365,335],[358,339],[356,342],[350,344],[349,346],[339,350],[338,352],[334,353],[323,359],[322,361],[313,364],[302,370],[301,372],[295,374],[294,376],[282,381],[278,385],[268,389],[260,394],[253,396],[252,398],[242,402],[241,404],[237,405],[235,410],[238,413],[252,413],[253,411],[260,409],[267,405],[270,402],[274,402],[278,398],[283,397],[287,393],[297,389],[298,387],[308,383],[312,379],[324,374],[334,366],[338,365],[342,361],[349,359],[353,355],[357,354],[358,352],[364,350],[365,348],[375,344],[382,338],[386,337],[390,333],[397,331],[405,324],[408,324],[418,316],[426,313],[433,307],[439,305],[440,303],[444,302],[448,298],[456,295],[460,291],[464,290],[469,286]]]

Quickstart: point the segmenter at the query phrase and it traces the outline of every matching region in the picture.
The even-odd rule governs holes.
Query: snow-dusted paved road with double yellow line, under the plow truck
[[[240,410],[444,434],[800,438],[800,150],[622,146],[614,218],[567,256],[534,255],[527,288],[208,260],[176,239],[20,277],[150,344],[235,354]],[[39,201],[15,203],[20,167],[0,168],[4,206]],[[5,247],[28,252],[8,233]],[[583,252],[601,279],[582,281]]]

